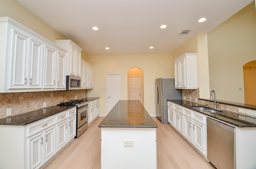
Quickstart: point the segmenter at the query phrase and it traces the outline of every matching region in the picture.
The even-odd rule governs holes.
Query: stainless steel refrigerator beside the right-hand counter
[[[167,100],[181,100],[181,89],[175,88],[175,79],[156,79],[156,116],[168,124]]]

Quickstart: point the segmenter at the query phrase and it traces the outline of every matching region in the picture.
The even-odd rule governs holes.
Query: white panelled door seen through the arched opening
[[[128,100],[141,101],[140,77],[128,77]]]

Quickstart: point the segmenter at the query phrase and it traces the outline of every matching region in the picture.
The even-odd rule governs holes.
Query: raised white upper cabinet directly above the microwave
[[[83,50],[71,40],[56,40],[56,44],[67,53],[66,75],[81,76],[81,51]]]

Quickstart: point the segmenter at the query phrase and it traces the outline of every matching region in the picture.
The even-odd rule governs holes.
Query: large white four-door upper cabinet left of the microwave
[[[8,17],[0,37],[0,92],[65,90],[67,51]]]

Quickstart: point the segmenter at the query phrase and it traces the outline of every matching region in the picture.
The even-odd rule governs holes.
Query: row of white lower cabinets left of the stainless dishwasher
[[[206,116],[168,101],[168,122],[204,156],[206,153]]]

